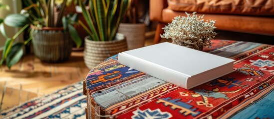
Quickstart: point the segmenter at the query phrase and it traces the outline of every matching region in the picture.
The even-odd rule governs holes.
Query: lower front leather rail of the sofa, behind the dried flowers
[[[163,22],[171,23],[175,16],[186,16],[185,12],[174,11],[169,8],[163,9]],[[197,13],[198,16],[203,15]],[[274,35],[274,18],[262,16],[227,15],[227,14],[205,14],[205,20],[214,19],[214,26],[219,30],[239,31],[246,33],[257,33]]]

